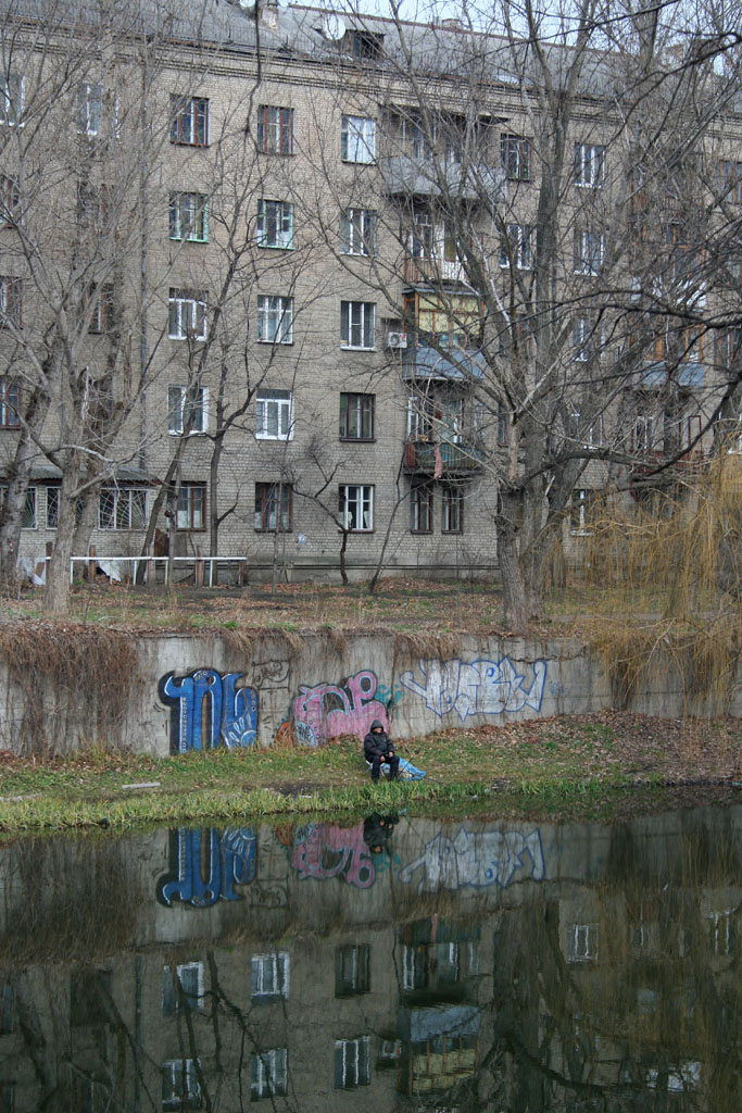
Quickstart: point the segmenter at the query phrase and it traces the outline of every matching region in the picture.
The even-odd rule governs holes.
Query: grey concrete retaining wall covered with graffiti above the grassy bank
[[[261,638],[247,654],[227,639],[169,634],[141,637],[138,649],[140,682],[122,696],[115,729],[96,726],[87,697],[76,715],[76,693],[60,693],[39,677],[42,715],[33,716],[33,731],[44,737],[34,737],[33,743],[73,748],[102,736],[166,755],[218,745],[270,746],[288,731],[304,745],[319,746],[338,735],[363,737],[374,719],[405,738],[448,727],[594,712],[614,702],[598,662],[567,639],[464,637],[447,639],[437,652],[421,653],[393,634],[342,641],[313,634],[296,644],[276,634]],[[28,748],[28,695],[9,680],[4,667],[0,680],[0,745],[12,751]],[[125,691],[126,684],[111,678],[116,682]],[[654,669],[630,708],[680,717],[682,678]],[[723,710],[742,716],[741,673]]]

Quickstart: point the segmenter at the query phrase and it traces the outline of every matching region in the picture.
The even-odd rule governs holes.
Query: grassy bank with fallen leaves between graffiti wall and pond
[[[26,761],[4,755],[0,831],[237,818],[414,814],[615,816],[679,788],[742,780],[742,723],[675,723],[606,712],[410,740],[422,781],[372,786],[356,739],[320,749],[214,750],[168,758],[90,749]]]

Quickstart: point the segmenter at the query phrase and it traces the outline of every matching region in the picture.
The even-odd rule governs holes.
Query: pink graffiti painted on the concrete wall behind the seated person
[[[376,699],[377,680],[368,670],[356,672],[339,684],[301,684],[294,700],[294,726],[297,741],[305,746],[319,746],[338,735],[359,735],[370,730],[374,719],[386,729],[384,703]]]

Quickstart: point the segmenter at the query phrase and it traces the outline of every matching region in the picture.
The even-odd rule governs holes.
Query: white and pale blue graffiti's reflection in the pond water
[[[509,885],[520,869],[525,869],[524,855],[531,858],[530,873],[534,881],[545,876],[544,851],[538,828],[531,835],[521,831],[482,831],[462,829],[455,838],[436,835],[425,845],[421,858],[405,866],[399,877],[409,883],[416,870],[422,869],[418,893],[436,889],[458,889],[464,885]]]

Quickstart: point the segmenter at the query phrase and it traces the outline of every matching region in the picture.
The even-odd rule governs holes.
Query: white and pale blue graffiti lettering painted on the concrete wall
[[[516,670],[509,657],[501,661],[422,660],[419,669],[419,683],[412,672],[403,672],[399,680],[423,696],[425,706],[438,717],[456,711],[463,720],[467,715],[502,715],[524,707],[541,711],[546,661],[534,661],[530,688],[524,688],[525,673]]]

